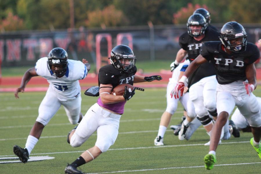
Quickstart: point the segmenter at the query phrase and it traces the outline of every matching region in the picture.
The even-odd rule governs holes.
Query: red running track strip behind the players
[[[141,88],[160,88],[166,87],[171,77],[172,73],[170,71],[162,70],[160,73],[145,74],[149,75],[161,75],[162,81],[153,81],[139,83],[135,86]],[[256,76],[259,84],[261,84],[261,68],[257,69]],[[22,77],[2,77],[0,82],[0,92],[13,92],[17,87],[20,86]],[[80,85],[82,89],[86,89],[90,86],[98,85],[98,77],[95,74],[88,74],[87,77],[83,80],[80,80]],[[26,91],[46,91],[49,84],[46,79],[42,77],[33,77],[26,86]]]

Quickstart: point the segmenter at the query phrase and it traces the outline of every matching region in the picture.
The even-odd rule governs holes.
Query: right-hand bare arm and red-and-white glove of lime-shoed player
[[[248,80],[248,83],[245,84],[245,88],[247,91],[247,94],[250,95],[250,93],[255,90],[257,83],[256,83],[256,70],[255,65],[250,64],[246,66],[246,77]]]

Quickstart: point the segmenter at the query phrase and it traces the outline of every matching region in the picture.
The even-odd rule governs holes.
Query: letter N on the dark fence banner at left
[[[21,60],[21,39],[6,39],[7,61]]]

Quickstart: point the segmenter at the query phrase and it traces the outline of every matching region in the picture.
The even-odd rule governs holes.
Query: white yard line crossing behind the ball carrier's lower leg
[[[249,141],[241,142],[224,142],[222,144],[235,144],[235,143],[249,143]],[[204,144],[180,144],[180,145],[167,145],[167,146],[150,146],[150,147],[132,147],[132,148],[116,148],[108,149],[108,151],[122,151],[122,150],[133,150],[133,149],[148,149],[148,148],[166,148],[166,147],[182,147],[182,146],[203,146]],[[69,152],[50,152],[50,153],[33,153],[31,155],[48,155],[48,154],[59,154],[59,153],[82,153],[84,151],[69,151]],[[9,157],[15,155],[1,155],[0,157]]]

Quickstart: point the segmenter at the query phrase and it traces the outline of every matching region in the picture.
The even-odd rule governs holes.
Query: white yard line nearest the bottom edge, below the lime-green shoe
[[[261,163],[261,162],[237,163],[237,164],[218,164],[218,165],[214,165],[214,166],[234,166],[234,165],[248,165],[248,164],[260,164],[260,163]],[[99,172],[99,173],[86,173],[86,174],[121,173],[121,172],[140,172],[140,171],[168,170],[168,169],[178,169],[178,168],[199,168],[199,167],[204,167],[204,166],[150,168],[150,169],[140,169],[140,170],[127,170],[127,171],[114,171],[114,172]]]

